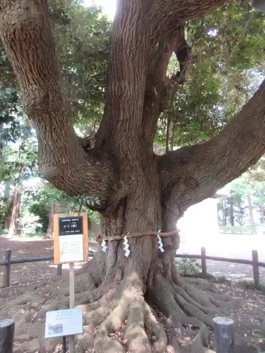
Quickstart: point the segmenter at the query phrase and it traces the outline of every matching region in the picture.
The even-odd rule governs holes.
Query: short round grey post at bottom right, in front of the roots
[[[234,353],[235,331],[234,320],[228,317],[215,317],[214,334],[216,353]]]

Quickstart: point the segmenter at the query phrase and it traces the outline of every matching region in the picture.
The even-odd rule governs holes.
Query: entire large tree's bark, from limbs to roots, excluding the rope
[[[118,1],[104,115],[95,146],[86,151],[69,119],[46,0],[0,2],[0,36],[36,129],[40,172],[69,195],[99,199],[94,209],[103,217],[103,236],[175,230],[190,205],[213,195],[263,154],[265,83],[213,140],[162,156],[153,153],[167,65],[181,45],[180,24],[228,2]],[[163,254],[156,243],[152,236],[131,238],[126,258],[121,241],[109,242],[107,253],[98,251],[80,271],[77,302],[83,305],[85,327],[79,351],[179,352],[178,330],[171,325],[181,335],[202,330],[203,323],[213,327],[211,318],[226,314],[228,299],[212,285],[178,275],[178,237],[163,238]],[[26,339],[27,350],[30,344],[32,349],[44,344],[39,332],[45,311],[68,303],[65,280],[60,290],[57,279],[43,286],[42,294],[37,296],[37,288],[2,309],[18,322],[16,334]],[[47,299],[52,296],[53,301]],[[27,315],[21,316],[18,305]],[[164,324],[174,334],[166,335],[153,305],[166,315]],[[112,339],[112,331],[124,324],[124,339]],[[207,344],[201,330],[192,352],[204,351]]]

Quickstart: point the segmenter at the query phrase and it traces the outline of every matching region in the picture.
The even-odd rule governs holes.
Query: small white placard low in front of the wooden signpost
[[[45,338],[83,333],[82,308],[47,311]]]

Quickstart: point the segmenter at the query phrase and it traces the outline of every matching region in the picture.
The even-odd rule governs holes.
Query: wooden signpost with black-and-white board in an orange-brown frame
[[[75,308],[75,262],[84,262],[88,255],[86,213],[54,215],[54,263],[69,263],[70,309]],[[69,336],[70,353],[75,351],[75,336]]]

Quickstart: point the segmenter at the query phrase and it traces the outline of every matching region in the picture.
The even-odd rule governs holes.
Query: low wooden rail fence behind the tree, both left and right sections
[[[91,257],[95,254],[95,252],[89,251],[88,256]],[[54,260],[53,255],[48,256],[40,256],[40,257],[32,257],[32,258],[22,258],[22,259],[12,259],[12,250],[7,249],[5,253],[5,260],[0,261],[0,266],[5,266],[4,268],[4,276],[3,276],[3,286],[9,287],[10,286],[10,274],[11,274],[11,265],[13,264],[24,264],[28,262],[37,262],[37,261],[51,261]],[[218,256],[207,256],[206,250],[204,247],[201,248],[200,255],[190,255],[190,254],[176,254],[176,258],[188,258],[188,259],[200,259],[201,260],[201,271],[202,274],[206,276],[207,274],[207,265],[206,260],[213,260],[213,261],[221,261],[221,262],[231,262],[236,264],[243,264],[243,265],[251,265],[253,268],[253,279],[254,285],[256,288],[259,288],[259,267],[265,267],[264,262],[258,261],[258,253],[256,250],[252,250],[252,260],[244,260],[244,259],[229,259],[225,257],[218,257]],[[62,274],[62,265],[57,265],[57,276]]]

